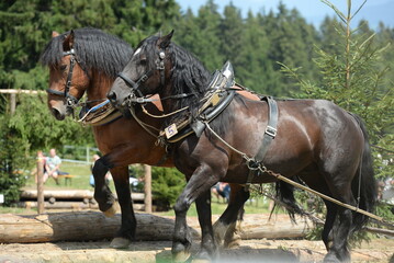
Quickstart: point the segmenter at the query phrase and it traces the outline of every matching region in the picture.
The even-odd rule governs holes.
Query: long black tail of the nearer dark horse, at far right
[[[356,198],[359,198],[357,199],[359,208],[373,213],[378,198],[378,187],[373,172],[373,159],[371,155],[367,127],[360,116],[356,114],[351,115],[359,123],[359,126],[364,136],[362,158],[359,163],[357,174],[352,181],[352,193]],[[361,229],[361,227],[368,222],[368,216],[354,211],[352,231]]]

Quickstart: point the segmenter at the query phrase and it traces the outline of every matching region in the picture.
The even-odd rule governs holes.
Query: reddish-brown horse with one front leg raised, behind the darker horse
[[[54,32],[52,41],[42,53],[41,62],[49,68],[47,103],[56,119],[63,121],[70,115],[85,93],[85,106],[88,108],[105,101],[117,72],[123,69],[132,54],[133,49],[127,43],[98,28],[77,28],[60,35]],[[146,107],[157,114],[162,111],[159,100],[147,103]],[[159,128],[161,125],[160,119],[147,117],[140,112],[136,115],[153,127]],[[92,171],[95,182],[94,198],[100,210],[106,216],[116,213],[115,198],[104,180],[110,170],[122,211],[122,225],[111,247],[127,248],[131,240],[135,239],[137,224],[132,206],[127,165],[145,163],[173,167],[173,162],[171,158],[166,158],[166,149],[155,144],[157,138],[148,134],[135,118],[121,115],[106,124],[92,126],[92,129],[97,145],[103,153],[103,157],[95,161]],[[239,185],[230,186],[232,193],[240,190]],[[232,199],[234,197],[230,197],[229,204]],[[227,219],[226,215],[232,214],[224,214],[219,220],[228,222],[225,244],[232,242],[232,231],[236,222],[233,217]],[[221,224],[218,227],[223,230]]]

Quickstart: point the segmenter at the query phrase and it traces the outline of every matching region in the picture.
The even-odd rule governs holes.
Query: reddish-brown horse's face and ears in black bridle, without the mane
[[[82,69],[77,56],[74,31],[67,35],[53,33],[52,43],[58,43],[56,62],[49,66],[48,107],[59,121],[74,112],[90,84],[89,72]],[[50,45],[50,44],[49,44]]]

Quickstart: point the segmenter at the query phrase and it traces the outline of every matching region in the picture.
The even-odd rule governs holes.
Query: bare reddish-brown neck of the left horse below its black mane
[[[92,105],[98,104],[106,99],[106,93],[110,91],[114,78],[109,77],[102,72],[93,72],[90,85],[87,90],[88,101],[97,101]]]

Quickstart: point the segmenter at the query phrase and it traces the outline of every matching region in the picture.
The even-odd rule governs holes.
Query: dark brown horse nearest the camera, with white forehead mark
[[[171,42],[172,34],[173,31],[140,42],[108,95],[113,105],[124,108],[134,106],[132,99],[148,94],[158,93],[161,98],[191,94],[162,102],[164,112],[169,115],[162,130],[184,118],[203,122],[199,112],[211,92],[210,72],[191,53]],[[362,119],[325,100],[277,100],[277,103],[275,137],[262,162],[257,163],[262,172],[251,183],[275,182],[267,171],[286,178],[297,175],[315,191],[372,211],[376,190]],[[203,123],[205,129],[200,137],[192,134],[169,145],[176,167],[188,178],[175,205],[172,254],[176,260],[190,249],[185,217],[193,202],[202,229],[201,249],[195,258],[215,259],[210,188],[218,181],[248,183],[248,171],[256,167],[250,167],[247,158],[259,152],[268,133],[268,113],[267,102],[235,94],[216,118]],[[239,203],[245,202],[243,191],[237,197]],[[328,201],[324,203],[327,207],[322,232],[327,248],[325,261],[349,261],[348,237],[368,218]]]

